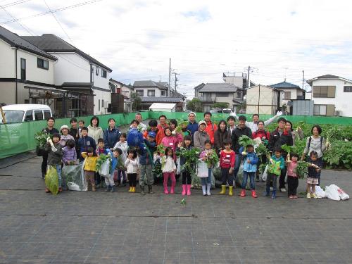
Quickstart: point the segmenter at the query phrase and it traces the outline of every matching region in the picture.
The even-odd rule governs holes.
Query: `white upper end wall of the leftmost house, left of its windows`
[[[15,78],[15,49],[0,39],[0,77]]]

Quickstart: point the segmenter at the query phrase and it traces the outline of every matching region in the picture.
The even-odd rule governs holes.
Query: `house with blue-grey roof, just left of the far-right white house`
[[[292,102],[291,100],[304,100],[306,97],[306,91],[304,89],[302,89],[301,87],[299,87],[296,84],[292,84],[290,82],[286,82],[286,80],[284,80],[284,82],[279,82],[277,84],[271,84],[269,85],[272,88],[275,89],[279,89],[282,91],[282,104],[286,104],[287,107],[287,112],[288,113],[292,113],[291,112],[291,105]]]

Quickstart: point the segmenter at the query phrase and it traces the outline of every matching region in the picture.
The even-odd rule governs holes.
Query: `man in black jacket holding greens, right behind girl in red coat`
[[[252,138],[252,131],[246,126],[246,117],[244,115],[239,116],[239,125],[232,131],[232,149],[236,153],[236,159],[234,163],[234,179],[236,179],[237,173],[239,172],[239,165],[241,165],[242,155],[239,153],[239,138],[247,136]]]

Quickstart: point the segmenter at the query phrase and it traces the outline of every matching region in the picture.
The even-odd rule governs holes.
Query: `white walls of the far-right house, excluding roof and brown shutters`
[[[336,86],[335,98],[320,98],[312,95],[314,104],[334,104],[335,111],[341,111],[341,116],[352,117],[352,92],[344,92],[344,86],[352,86],[351,82],[339,79],[315,80],[312,84],[312,87],[314,86]]]

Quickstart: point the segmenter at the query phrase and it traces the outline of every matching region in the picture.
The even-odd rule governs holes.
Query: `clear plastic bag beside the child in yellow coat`
[[[84,161],[77,165],[64,165],[61,176],[66,187],[71,191],[87,191],[87,182],[84,177]]]

